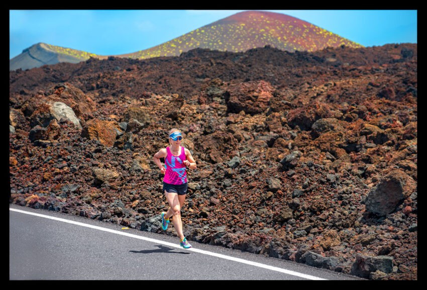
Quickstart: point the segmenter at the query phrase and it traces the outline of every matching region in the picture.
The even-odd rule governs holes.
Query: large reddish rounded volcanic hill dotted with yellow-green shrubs
[[[264,11],[239,12],[158,46],[125,57],[146,59],[178,56],[194,48],[244,52],[271,47],[283,51],[316,51],[327,47],[363,47],[295,17]]]

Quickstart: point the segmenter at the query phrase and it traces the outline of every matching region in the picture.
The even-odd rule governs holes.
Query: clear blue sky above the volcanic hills
[[[44,42],[98,55],[137,52],[244,10],[10,10],[10,59]],[[268,10],[363,46],[417,43],[416,10]]]

